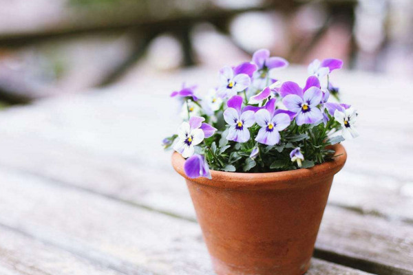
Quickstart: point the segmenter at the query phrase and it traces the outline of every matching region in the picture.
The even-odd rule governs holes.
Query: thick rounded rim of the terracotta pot
[[[335,144],[331,146],[335,150],[337,157],[328,162],[317,164],[312,168],[300,168],[297,170],[288,170],[268,173],[235,173],[210,170],[212,179],[198,177],[191,179],[185,175],[185,159],[177,152],[171,157],[172,166],[182,177],[198,184],[213,186],[215,188],[233,188],[233,189],[284,189],[293,188],[303,185],[312,184],[312,179],[324,177],[333,177],[346,163],[347,153],[343,145]]]

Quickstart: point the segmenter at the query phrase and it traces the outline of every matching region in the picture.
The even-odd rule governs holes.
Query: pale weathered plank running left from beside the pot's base
[[[139,270],[140,266],[149,274],[213,274],[196,223],[62,188],[41,178],[3,169],[0,176],[3,226],[97,263],[105,263],[105,258],[106,265],[124,274],[146,274]],[[19,243],[12,241],[12,245]],[[326,261],[313,261],[308,274],[320,272],[366,274]]]

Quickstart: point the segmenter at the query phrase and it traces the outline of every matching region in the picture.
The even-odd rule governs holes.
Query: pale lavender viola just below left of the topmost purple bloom
[[[250,83],[251,78],[247,74],[234,74],[231,67],[223,67],[220,69],[220,87],[218,87],[217,96],[231,98],[248,88]]]

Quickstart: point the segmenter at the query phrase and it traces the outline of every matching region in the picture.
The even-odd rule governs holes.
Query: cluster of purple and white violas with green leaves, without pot
[[[304,87],[273,78],[284,58],[258,50],[252,61],[220,69],[219,85],[205,96],[182,85],[178,133],[163,140],[187,158],[188,177],[211,179],[210,168],[228,172],[271,172],[310,168],[335,157],[330,147],[357,137],[357,112],[339,103],[330,74],[343,62],[327,58],[308,66]]]

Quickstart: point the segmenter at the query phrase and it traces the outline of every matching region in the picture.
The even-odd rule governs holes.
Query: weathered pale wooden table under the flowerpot
[[[213,85],[215,72],[142,69],[3,111],[0,274],[213,274],[160,141],[179,125],[169,92],[182,80]],[[345,143],[308,274],[413,274],[413,85],[346,72],[335,83],[359,110],[361,136]]]

